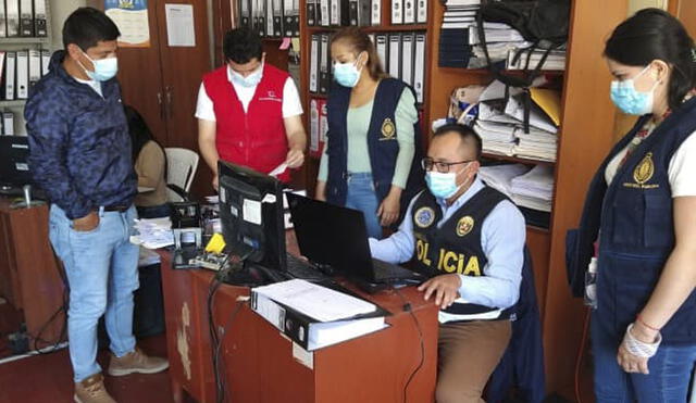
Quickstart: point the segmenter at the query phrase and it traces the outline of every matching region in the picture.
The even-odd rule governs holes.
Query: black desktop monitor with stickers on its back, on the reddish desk
[[[283,186],[271,176],[220,161],[220,219],[227,252],[284,270]]]

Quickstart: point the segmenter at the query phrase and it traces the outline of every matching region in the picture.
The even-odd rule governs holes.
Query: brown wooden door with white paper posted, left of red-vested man
[[[167,4],[191,4],[194,7],[195,47],[171,47],[167,40]],[[159,0],[157,4],[158,35],[160,37],[160,61],[163,83],[164,115],[167,128],[167,147],[198,150],[198,121],[196,102],[204,73],[212,67],[208,36],[208,11],[206,0]],[[200,152],[199,152],[200,153]],[[204,161],[199,162],[191,188],[197,196],[212,194],[212,173]]]

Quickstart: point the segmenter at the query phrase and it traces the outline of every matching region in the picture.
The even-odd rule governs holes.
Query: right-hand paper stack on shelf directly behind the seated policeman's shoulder
[[[550,166],[536,165],[529,173],[513,178],[510,190],[515,204],[550,212],[554,199],[554,169]]]

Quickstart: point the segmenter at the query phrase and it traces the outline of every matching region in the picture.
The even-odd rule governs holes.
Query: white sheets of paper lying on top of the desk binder
[[[377,308],[373,303],[300,279],[253,291],[320,322],[346,319]]]

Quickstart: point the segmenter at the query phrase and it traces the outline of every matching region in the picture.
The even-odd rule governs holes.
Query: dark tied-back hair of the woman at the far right
[[[660,9],[644,9],[619,24],[605,47],[605,55],[630,66],[661,60],[672,67],[668,104],[678,109],[696,86],[694,39],[682,23]]]

